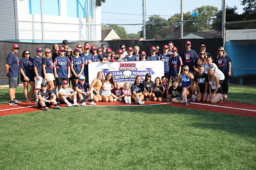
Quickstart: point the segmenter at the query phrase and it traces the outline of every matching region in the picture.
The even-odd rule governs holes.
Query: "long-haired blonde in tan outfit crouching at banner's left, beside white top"
[[[92,81],[91,86],[93,86],[93,101],[102,101],[102,96],[100,96],[100,88],[104,84],[104,77],[102,71],[98,71],[97,78]]]

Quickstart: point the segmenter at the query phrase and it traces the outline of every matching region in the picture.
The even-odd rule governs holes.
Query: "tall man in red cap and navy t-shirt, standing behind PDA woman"
[[[190,41],[186,41],[185,44],[186,49],[184,51],[182,51],[181,53],[181,59],[182,59],[182,63],[185,66],[189,67],[189,73],[193,74],[195,76],[195,70],[193,69],[193,64],[196,60],[196,58],[198,57],[198,55],[196,54],[196,51],[191,49],[191,42]]]

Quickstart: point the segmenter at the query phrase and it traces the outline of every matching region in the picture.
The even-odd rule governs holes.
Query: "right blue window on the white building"
[[[67,16],[74,18],[86,18],[87,0],[66,0]],[[92,17],[92,0],[89,0],[90,16]],[[93,17],[92,17],[93,18]]]

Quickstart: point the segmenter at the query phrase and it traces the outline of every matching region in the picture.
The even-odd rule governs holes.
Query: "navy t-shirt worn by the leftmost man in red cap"
[[[7,77],[18,77],[19,76],[19,59],[18,57],[10,52],[6,59],[6,64],[10,64],[10,68]]]

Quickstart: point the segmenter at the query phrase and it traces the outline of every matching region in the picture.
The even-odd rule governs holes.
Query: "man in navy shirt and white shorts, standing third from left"
[[[61,47],[63,48],[63,47]],[[38,47],[36,48],[36,56],[33,58],[33,67],[34,67],[34,80],[35,80],[35,97],[36,102],[38,103],[38,92],[41,90],[41,84],[45,82],[45,79],[43,78],[43,70],[42,70],[42,54],[43,49]]]

